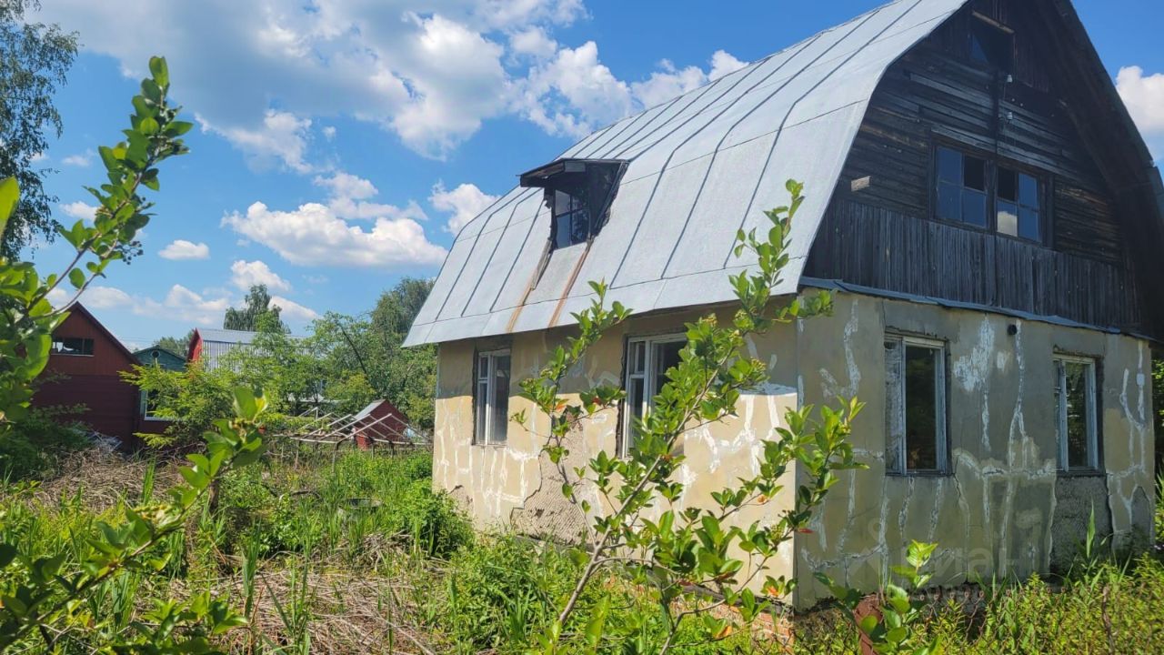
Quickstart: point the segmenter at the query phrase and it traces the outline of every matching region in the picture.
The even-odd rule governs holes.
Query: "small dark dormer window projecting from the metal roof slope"
[[[620,160],[558,160],[521,174],[521,186],[545,189],[553,248],[589,241],[602,230],[624,170]]]

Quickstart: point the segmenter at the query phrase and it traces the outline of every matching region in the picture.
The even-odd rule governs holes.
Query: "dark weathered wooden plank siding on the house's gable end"
[[[971,12],[1016,29],[1014,80],[968,58]],[[978,2],[894,64],[874,93],[805,274],[1080,323],[1142,328],[1107,183],[1039,65],[1050,45],[1013,0]],[[1044,52],[1044,55],[1041,55]],[[1043,174],[1044,242],[930,220],[934,148]],[[871,184],[852,191],[864,177]]]

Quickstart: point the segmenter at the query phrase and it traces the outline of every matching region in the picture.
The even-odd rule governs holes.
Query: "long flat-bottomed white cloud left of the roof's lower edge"
[[[371,230],[364,230],[319,203],[293,211],[255,203],[247,213],[223,217],[222,225],[300,266],[404,268],[438,265],[446,254],[411,218],[377,218]]]

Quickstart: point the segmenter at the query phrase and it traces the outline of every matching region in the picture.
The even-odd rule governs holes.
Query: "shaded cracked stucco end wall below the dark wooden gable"
[[[812,579],[817,570],[875,587],[890,565],[903,562],[910,540],[939,543],[935,583],[950,585],[1062,566],[1086,534],[1092,506],[1098,529],[1117,543],[1149,533],[1151,514],[1141,500],[1152,490],[1143,340],[852,294],[835,300],[833,317],[800,326],[799,385],[807,403],[853,392],[867,402],[853,442],[870,470],[844,473],[814,533],[797,536],[799,606],[824,593]],[[946,476],[886,474],[886,330],[946,343]],[[1066,477],[1057,470],[1056,352],[1100,360],[1103,474]]]

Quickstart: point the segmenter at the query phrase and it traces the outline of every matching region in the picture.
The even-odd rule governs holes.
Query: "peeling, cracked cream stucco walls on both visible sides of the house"
[[[789,544],[772,570],[773,575],[793,575],[795,568],[799,606],[812,605],[824,592],[812,578],[818,570],[853,586],[875,587],[890,565],[904,559],[910,540],[938,542],[935,582],[960,584],[977,576],[1023,577],[1062,565],[1085,534],[1093,503],[1099,530],[1113,533],[1117,542],[1130,543],[1137,531],[1150,531],[1151,358],[1144,341],[853,294],[836,294],[835,303],[832,317],[783,326],[748,344],[753,357],[769,362],[769,382],[741,399],[738,417],[687,435],[687,462],[677,472],[687,485],[680,508],[701,502],[754,470],[762,441],[774,425],[783,424],[787,409],[801,403],[832,404],[837,396],[856,395],[866,402],[854,424],[853,442],[870,469],[840,476],[811,534],[797,535],[795,551]],[[625,337],[681,332],[684,322],[697,316],[633,318],[570,372],[566,392],[597,382],[618,383]],[[722,321],[729,316],[719,311]],[[887,329],[946,344],[946,476],[886,474]],[[434,484],[452,492],[478,527],[517,526],[527,533],[569,538],[574,536],[569,533],[585,523],[560,500],[561,481],[540,455],[538,435],[545,434],[547,420],[528,403],[511,397],[510,411],[525,410],[528,422],[525,427],[510,423],[506,445],[473,445],[475,348],[510,347],[517,381],[534,375],[568,333],[554,330],[440,347]],[[1100,360],[1103,476],[1066,478],[1057,471],[1055,352]],[[585,423],[570,437],[573,457],[589,459],[599,449],[615,452],[618,420],[611,410]],[[740,516],[740,522],[775,520],[790,507],[793,487],[788,484],[785,494]],[[585,498],[592,490],[579,493]],[[594,495],[589,500],[601,506]]]

